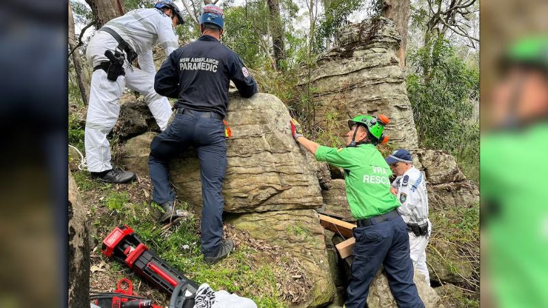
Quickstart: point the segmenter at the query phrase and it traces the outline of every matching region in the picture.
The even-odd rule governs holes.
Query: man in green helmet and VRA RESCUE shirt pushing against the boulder
[[[413,282],[407,226],[397,211],[400,206],[397,198],[389,191],[392,172],[375,147],[388,140],[383,133],[388,122],[382,115],[360,115],[349,120],[347,146],[343,149],[308,140],[303,137],[300,125],[291,123],[295,140],[318,161],[345,170],[350,212],[358,221],[358,227],[353,229],[356,244],[352,251],[347,308],[366,306],[369,285],[381,265],[399,307],[424,307]]]

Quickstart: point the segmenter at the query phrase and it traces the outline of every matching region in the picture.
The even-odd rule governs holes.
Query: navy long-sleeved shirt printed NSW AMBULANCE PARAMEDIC
[[[242,97],[257,92],[257,84],[240,57],[212,36],[173,51],[154,78],[154,90],[178,99],[175,108],[226,115],[228,88],[234,81]]]

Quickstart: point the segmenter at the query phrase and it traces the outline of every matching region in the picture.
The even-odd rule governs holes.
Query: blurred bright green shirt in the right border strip
[[[499,307],[548,307],[547,140],[548,123],[481,140],[482,266]]]

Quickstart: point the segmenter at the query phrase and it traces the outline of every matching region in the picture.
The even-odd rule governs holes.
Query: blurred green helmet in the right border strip
[[[506,53],[507,64],[527,64],[548,70],[548,36],[524,38]]]

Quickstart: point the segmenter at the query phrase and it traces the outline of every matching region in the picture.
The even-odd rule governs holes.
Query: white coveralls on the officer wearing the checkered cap
[[[421,170],[412,166],[403,173],[403,176],[397,177],[392,186],[398,190],[397,198],[401,203],[398,211],[403,221],[406,224],[424,224],[428,222],[427,235],[416,236],[411,231],[408,234],[413,266],[425,275],[426,283],[430,285],[430,275],[426,266],[426,246],[432,232],[432,223],[428,219],[426,177]]]

